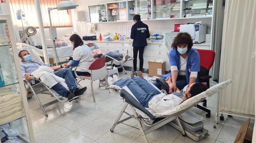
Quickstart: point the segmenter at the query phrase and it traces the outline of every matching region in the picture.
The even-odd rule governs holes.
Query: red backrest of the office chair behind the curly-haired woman
[[[211,78],[211,76],[209,76],[209,71],[214,63],[215,52],[213,50],[196,50],[200,55],[200,71],[198,72],[199,82],[206,83],[209,88]]]

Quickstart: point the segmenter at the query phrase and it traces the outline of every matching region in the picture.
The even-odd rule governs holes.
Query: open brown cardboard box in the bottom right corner
[[[234,143],[252,142],[253,129],[248,129],[249,124],[250,118],[241,126],[239,132],[237,133],[236,139],[234,140]]]

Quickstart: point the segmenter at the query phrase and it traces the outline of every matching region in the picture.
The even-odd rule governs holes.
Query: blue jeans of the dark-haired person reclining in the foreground
[[[119,87],[127,86],[129,90],[131,90],[132,94],[137,98],[140,104],[148,108],[148,102],[160,92],[152,87],[147,80],[142,77],[133,77],[133,78],[125,78],[120,79],[114,83],[114,85]]]

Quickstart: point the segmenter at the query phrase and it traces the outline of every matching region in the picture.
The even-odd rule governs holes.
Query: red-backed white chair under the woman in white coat
[[[90,74],[83,75],[83,76],[78,76],[77,73],[76,73],[77,69],[83,69],[83,70],[87,71]],[[95,97],[94,97],[94,91],[93,91],[93,85],[92,84],[93,84],[94,80],[98,80],[98,79],[101,79],[101,78],[105,77],[105,85],[106,85],[107,75],[108,75],[108,72],[106,70],[106,58],[105,57],[100,57],[99,59],[96,59],[91,64],[89,69],[74,67],[74,71],[75,71],[76,77],[78,77],[80,79],[80,80],[78,80],[78,83],[82,80],[85,80],[85,79],[91,80],[92,97],[93,97],[93,102],[95,102]]]

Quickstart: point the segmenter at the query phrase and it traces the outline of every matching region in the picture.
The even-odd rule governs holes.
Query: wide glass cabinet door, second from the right
[[[153,19],[180,18],[180,1],[153,0]]]

